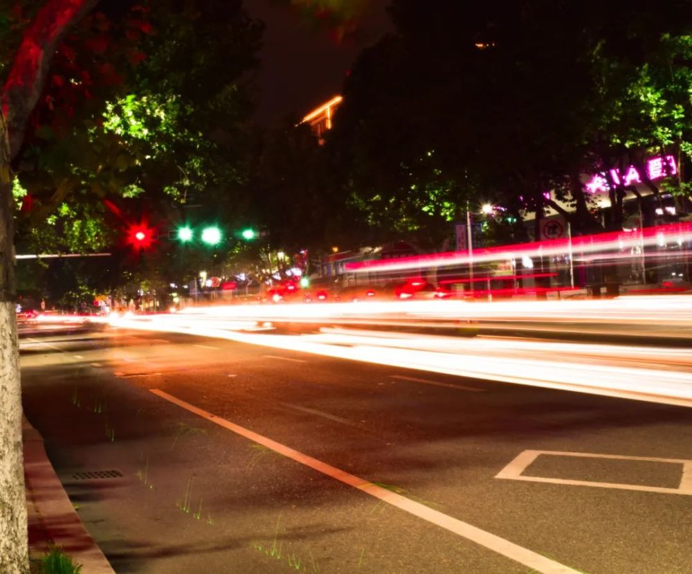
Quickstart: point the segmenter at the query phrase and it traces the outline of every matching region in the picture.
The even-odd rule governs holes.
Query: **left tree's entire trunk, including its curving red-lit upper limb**
[[[19,153],[26,122],[43,90],[55,49],[69,28],[96,3],[98,0],[46,0],[24,30],[3,87],[0,113],[0,574],[29,571],[10,162]]]

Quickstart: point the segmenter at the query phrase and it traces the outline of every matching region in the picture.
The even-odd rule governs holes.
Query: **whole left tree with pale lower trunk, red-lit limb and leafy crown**
[[[0,114],[0,571],[8,574],[28,571],[12,253],[15,195],[24,192],[15,171],[28,191],[22,217],[46,222],[60,208],[53,224],[73,231],[80,209],[98,223],[94,210],[107,197],[156,186],[169,202],[191,188],[227,194],[224,179],[238,165],[228,152],[242,147],[250,105],[239,78],[262,32],[235,0],[104,3],[109,16],[91,12],[97,3],[0,6],[0,51],[11,62]],[[136,66],[143,49],[150,59]],[[208,171],[212,163],[222,167]],[[68,241],[84,249],[89,233],[78,231]],[[50,229],[33,238],[57,239]]]

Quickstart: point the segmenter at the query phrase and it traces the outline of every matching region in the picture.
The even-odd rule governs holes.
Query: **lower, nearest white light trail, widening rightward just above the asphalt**
[[[192,314],[113,319],[128,329],[178,332],[458,377],[692,406],[689,349],[529,339],[325,330],[295,336],[226,330]],[[226,323],[226,326],[228,324]]]

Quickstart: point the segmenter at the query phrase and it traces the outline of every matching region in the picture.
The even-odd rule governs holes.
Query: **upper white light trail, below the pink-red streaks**
[[[527,333],[692,339],[692,296],[682,294],[493,303],[438,299],[228,305],[193,307],[178,315],[197,321],[254,321],[258,326],[304,323],[481,331],[520,329]]]

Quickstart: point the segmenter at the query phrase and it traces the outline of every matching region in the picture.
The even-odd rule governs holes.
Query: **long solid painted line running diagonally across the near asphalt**
[[[180,406],[182,409],[185,409],[190,413],[194,413],[201,418],[218,424],[219,427],[224,427],[224,429],[228,429],[229,431],[243,436],[248,440],[257,442],[258,445],[262,445],[277,452],[278,454],[282,454],[286,458],[295,460],[296,463],[316,470],[317,472],[325,474],[330,478],[334,478],[337,481],[352,486],[365,494],[370,494],[370,496],[374,496],[376,499],[380,499],[385,503],[399,508],[399,510],[408,512],[415,517],[435,524],[436,526],[444,528],[445,530],[449,530],[450,532],[471,540],[476,544],[480,544],[489,550],[493,550],[495,553],[515,560],[520,564],[524,564],[527,566],[527,568],[532,568],[533,571],[537,573],[579,574],[579,572],[574,570],[574,568],[560,564],[559,562],[542,556],[533,550],[529,550],[528,548],[518,546],[518,544],[514,544],[513,542],[494,535],[491,532],[486,532],[486,530],[477,528],[477,526],[473,526],[468,522],[464,522],[450,517],[447,514],[443,514],[442,512],[439,512],[439,510],[433,510],[424,504],[407,499],[406,496],[401,496],[401,494],[397,494],[396,492],[392,492],[391,490],[377,486],[370,481],[366,481],[364,478],[359,478],[354,474],[349,474],[348,472],[328,465],[327,463],[323,463],[321,460],[313,458],[307,454],[302,454],[302,452],[292,449],[291,447],[286,447],[286,445],[282,445],[280,442],[271,440],[271,438],[262,436],[259,433],[255,433],[254,431],[241,427],[238,424],[230,422],[224,418],[217,417],[217,415],[212,415],[212,413],[199,409],[197,406],[174,397],[173,395],[169,395],[165,391],[161,391],[158,388],[150,388],[149,392],[154,393],[154,395],[161,397],[163,400],[167,400],[172,404]]]

